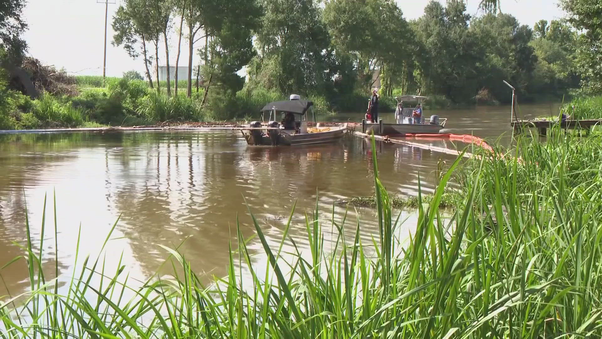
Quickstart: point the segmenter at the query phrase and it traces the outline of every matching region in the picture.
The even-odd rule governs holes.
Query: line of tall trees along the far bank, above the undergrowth
[[[295,92],[334,110],[357,109],[374,74],[381,95],[439,95],[453,103],[507,101],[502,80],[523,98],[600,92],[602,5],[560,5],[566,19],[529,27],[501,13],[497,0],[483,0],[477,16],[464,0],[431,1],[415,20],[394,0],[124,0],[112,19],[113,43],[143,62],[147,83],[158,91],[160,60],[179,90],[177,72],[169,74],[175,53],[176,67],[188,65],[189,97],[193,69],[202,77],[203,105],[241,92]],[[0,6],[10,19],[0,24],[3,60],[16,62],[26,49],[22,7],[21,0]],[[237,74],[244,67],[247,81]],[[171,86],[167,81],[168,96]]]

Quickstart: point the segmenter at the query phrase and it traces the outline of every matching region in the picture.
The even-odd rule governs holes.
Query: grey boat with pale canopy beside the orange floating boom
[[[442,128],[445,127],[447,118],[441,119],[439,123],[438,115],[431,115],[429,122],[424,122],[424,109],[421,116],[420,124],[412,124],[412,113],[415,107],[403,107],[403,104],[413,103],[422,104],[427,97],[420,97],[417,95],[403,95],[402,97],[396,97],[397,109],[395,110],[395,124],[386,124],[379,119],[379,122],[368,122],[365,119],[362,120],[362,133],[373,132],[375,135],[405,135],[405,134],[432,134],[439,133]]]

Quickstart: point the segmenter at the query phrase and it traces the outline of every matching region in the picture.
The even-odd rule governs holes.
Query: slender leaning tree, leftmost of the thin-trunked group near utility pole
[[[113,16],[113,30],[116,32],[113,36],[114,46],[123,46],[128,55],[133,59],[143,56],[144,69],[149,86],[153,88],[151,71],[149,65],[152,65],[152,57],[148,55],[147,42],[153,34],[151,21],[147,11],[140,10],[144,5],[140,0],[126,0],[125,6],[117,8]]]

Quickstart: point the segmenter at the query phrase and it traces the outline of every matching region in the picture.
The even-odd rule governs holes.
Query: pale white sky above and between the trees
[[[104,0],[29,0],[23,13],[29,24],[29,30],[24,34],[29,45],[28,54],[47,65],[64,67],[76,74],[102,75],[105,5],[96,1]],[[117,4],[109,4],[107,76],[120,76],[130,69],[142,72],[144,65],[141,59],[132,60],[123,48],[111,45],[114,34],[111,17],[121,0],[113,0],[115,1]],[[408,20],[420,17],[428,2],[429,0],[397,0]],[[477,14],[479,0],[467,2],[468,13]],[[514,15],[521,24],[530,26],[541,19],[550,21],[563,16],[557,0],[502,0],[501,11]],[[171,40],[170,65],[175,65],[175,33]],[[160,53],[160,65],[164,65],[164,51]],[[187,60],[188,52],[182,51],[180,65],[186,66]]]

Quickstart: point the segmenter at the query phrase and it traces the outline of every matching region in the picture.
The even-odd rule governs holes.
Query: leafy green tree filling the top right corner
[[[560,0],[568,21],[580,36],[577,65],[582,75],[582,85],[592,92],[602,92],[602,2],[592,0]]]

